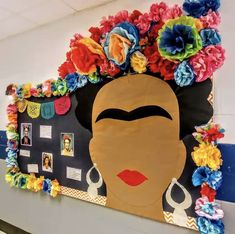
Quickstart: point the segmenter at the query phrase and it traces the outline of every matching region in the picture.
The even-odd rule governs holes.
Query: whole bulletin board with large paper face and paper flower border
[[[212,75],[219,1],[155,3],[75,34],[58,79],[10,84],[6,181],[224,233]]]

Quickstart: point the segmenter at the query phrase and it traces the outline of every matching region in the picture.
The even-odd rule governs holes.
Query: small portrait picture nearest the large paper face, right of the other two
[[[63,156],[74,156],[74,134],[61,133],[60,134],[60,149]]]

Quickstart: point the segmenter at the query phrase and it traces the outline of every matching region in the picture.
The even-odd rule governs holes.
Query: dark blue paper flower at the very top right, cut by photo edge
[[[206,15],[209,10],[217,11],[220,0],[185,0],[183,9],[190,16],[199,18]]]

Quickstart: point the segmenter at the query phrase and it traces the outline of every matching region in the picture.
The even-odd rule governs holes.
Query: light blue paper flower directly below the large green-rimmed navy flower
[[[176,84],[180,87],[191,85],[194,82],[195,75],[187,61],[183,61],[179,64],[174,72],[174,78]]]

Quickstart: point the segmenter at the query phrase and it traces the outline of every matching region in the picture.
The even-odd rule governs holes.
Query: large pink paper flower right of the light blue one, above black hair
[[[196,75],[196,82],[202,82],[210,78],[215,70],[220,68],[225,60],[225,50],[220,45],[207,46],[189,62],[194,69]]]

